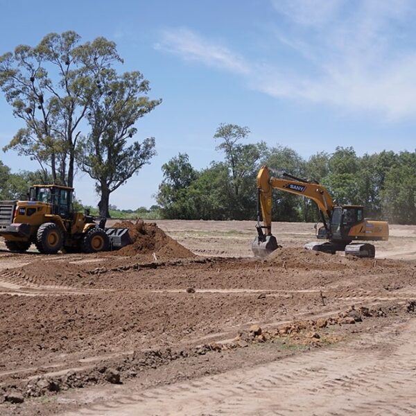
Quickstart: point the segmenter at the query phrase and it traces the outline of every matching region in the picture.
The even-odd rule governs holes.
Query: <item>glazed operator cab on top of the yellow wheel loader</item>
[[[73,214],[73,188],[60,185],[34,185],[29,191],[29,200],[51,205],[51,214],[69,218]]]

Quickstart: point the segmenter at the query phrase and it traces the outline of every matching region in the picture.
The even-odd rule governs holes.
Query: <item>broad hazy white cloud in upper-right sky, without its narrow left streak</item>
[[[286,3],[275,1],[275,6]],[[326,4],[317,11],[319,4]],[[331,4],[329,8],[328,4]],[[272,66],[259,77],[259,88],[277,97],[330,103],[349,110],[381,112],[388,119],[416,114],[416,50],[400,39],[414,12],[406,0],[364,0],[356,8],[335,0],[291,1],[278,9],[293,21],[295,35],[281,42],[308,61],[290,77]],[[343,8],[346,15],[340,15]],[[310,21],[302,17],[311,16]],[[320,23],[319,28],[313,24]],[[410,26],[411,27],[411,26]],[[307,33],[307,35],[306,35]],[[306,68],[306,69],[305,69]],[[310,76],[313,70],[318,75]]]

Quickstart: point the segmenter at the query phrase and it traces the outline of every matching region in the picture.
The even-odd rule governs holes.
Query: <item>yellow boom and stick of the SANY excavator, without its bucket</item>
[[[292,179],[281,179],[272,177],[267,166],[262,166],[257,175],[257,192],[259,196],[259,207],[257,211],[257,229],[259,229],[260,213],[263,217],[263,228],[266,229],[266,234],[272,233],[272,191],[279,189],[280,191],[294,193],[295,195],[304,196],[313,200],[322,215],[326,218],[331,217],[331,212],[335,204],[327,189],[322,185],[300,180],[291,175],[284,174],[286,177]]]

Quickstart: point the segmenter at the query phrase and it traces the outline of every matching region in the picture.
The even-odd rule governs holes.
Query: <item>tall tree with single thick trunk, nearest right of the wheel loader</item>
[[[150,100],[149,83],[139,71],[117,75],[101,71],[100,88],[94,88],[87,120],[91,131],[78,143],[80,169],[96,181],[100,215],[109,216],[110,193],[118,189],[155,155],[155,139],[128,140],[137,133],[135,123],[161,100]]]

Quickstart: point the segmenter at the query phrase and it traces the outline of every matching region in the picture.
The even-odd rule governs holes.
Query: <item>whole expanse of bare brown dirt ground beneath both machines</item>
[[[1,415],[415,413],[416,227],[374,260],[281,223],[259,260],[251,222],[159,225],[119,253],[0,251]]]

